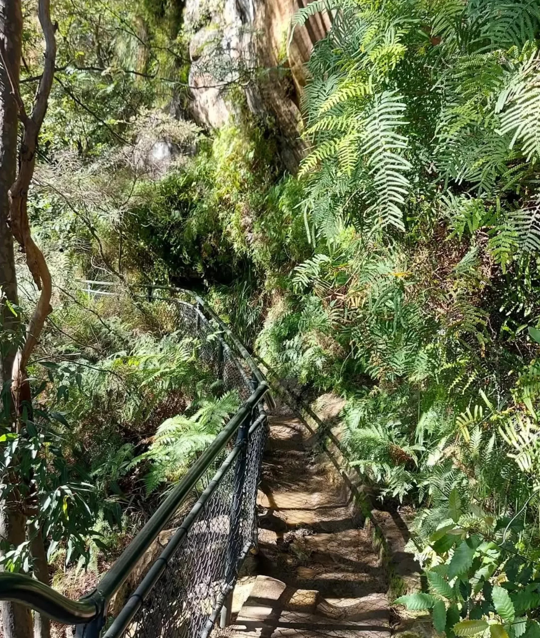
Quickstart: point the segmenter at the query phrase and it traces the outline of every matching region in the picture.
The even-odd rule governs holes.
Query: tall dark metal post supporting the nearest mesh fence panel
[[[236,459],[234,477],[232,479],[232,505],[230,508],[229,538],[227,539],[227,558],[225,563],[225,583],[230,587],[230,595],[225,598],[221,608],[220,627],[227,627],[230,621],[230,607],[232,604],[232,588],[236,579],[238,559],[241,553],[241,524],[242,524],[242,501],[244,495],[244,477],[246,475],[246,459],[248,452],[248,431],[251,419],[244,420],[238,431],[236,445],[241,445],[240,454]]]

